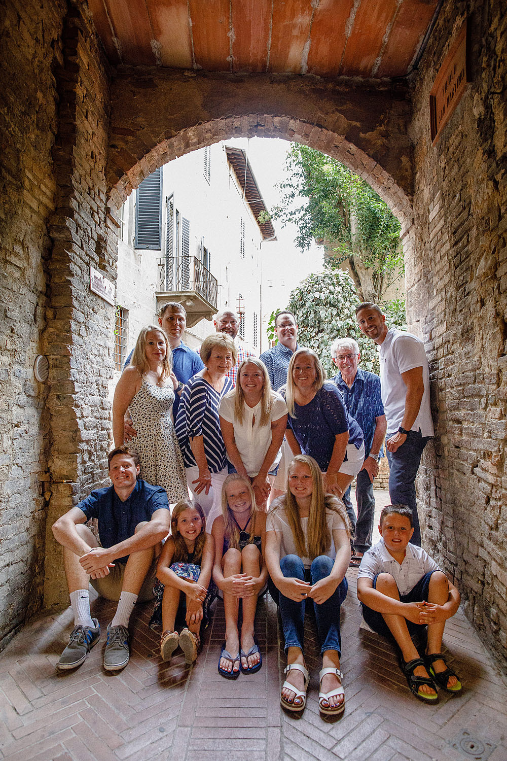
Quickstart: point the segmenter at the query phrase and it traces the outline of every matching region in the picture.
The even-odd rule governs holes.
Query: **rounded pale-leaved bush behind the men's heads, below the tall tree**
[[[287,310],[296,315],[299,346],[313,349],[322,361],[328,377],[337,374],[331,361],[331,343],[336,338],[356,339],[360,346],[363,370],[379,372],[379,352],[375,343],[361,333],[356,320],[360,304],[356,285],[347,272],[326,267],[324,272],[309,275],[290,294]],[[391,302],[385,308],[388,325],[404,327],[404,301]]]

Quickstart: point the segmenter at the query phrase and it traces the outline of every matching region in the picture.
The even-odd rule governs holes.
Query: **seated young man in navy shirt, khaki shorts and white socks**
[[[89,583],[106,600],[118,600],[107,627],[104,668],[116,671],[128,664],[128,620],[138,599],[153,599],[157,557],[170,530],[166,492],[138,479],[138,454],[117,447],[108,463],[112,486],[92,492],[52,526],[64,548],[74,611],[74,629],[56,666],[61,670],[81,665],[100,637],[99,622],[90,615]],[[90,518],[97,518],[100,541],[84,525]]]

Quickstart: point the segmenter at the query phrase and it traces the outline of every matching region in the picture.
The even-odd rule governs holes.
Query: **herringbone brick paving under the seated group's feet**
[[[379,506],[387,492],[379,492]],[[360,629],[356,571],[347,573],[342,608],[346,708],[325,721],[318,712],[318,658],[307,616],[309,699],[302,718],[280,709],[285,665],[277,610],[258,606],[261,670],[238,680],[217,673],[224,619],[221,603],[193,668],[181,651],[170,665],[147,628],[151,605],[132,622],[132,657],[122,673],[103,670],[105,637],[84,664],[57,673],[72,629],[70,609],[42,616],[0,656],[0,758],[9,761],[464,761],[507,759],[505,683],[461,612],[448,623],[445,646],[464,681],[458,696],[420,703],[407,688],[385,640]],[[114,605],[95,600],[105,629]]]

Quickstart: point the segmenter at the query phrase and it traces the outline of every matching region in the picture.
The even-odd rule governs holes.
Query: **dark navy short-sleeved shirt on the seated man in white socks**
[[[114,486],[106,486],[95,489],[76,507],[87,519],[97,518],[100,543],[107,548],[133,537],[138,523],[151,521],[151,516],[160,508],[169,510],[169,502],[165,489],[138,478],[125,501],[116,494]],[[126,563],[127,560],[128,557],[117,558],[115,562]]]

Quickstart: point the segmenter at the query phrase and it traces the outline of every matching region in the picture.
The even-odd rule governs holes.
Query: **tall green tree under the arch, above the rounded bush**
[[[388,205],[343,164],[306,145],[293,143],[286,167],[290,177],[279,183],[284,198],[272,217],[296,224],[301,250],[324,242],[334,266],[349,263],[363,300],[382,301],[403,274],[400,224]]]

